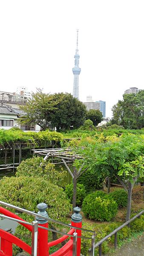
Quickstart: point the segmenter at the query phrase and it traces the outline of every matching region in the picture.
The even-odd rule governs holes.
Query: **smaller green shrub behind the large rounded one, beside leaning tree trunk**
[[[117,202],[118,207],[127,206],[127,192],[124,189],[115,189],[108,196]]]

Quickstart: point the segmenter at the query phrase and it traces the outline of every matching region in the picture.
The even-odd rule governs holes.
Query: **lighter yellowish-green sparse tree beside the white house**
[[[46,94],[37,89],[37,93],[32,94],[32,99],[29,99],[25,106],[20,107],[24,113],[18,122],[22,125],[40,125],[42,130],[46,130],[51,121],[51,113],[57,109],[58,105],[58,100],[53,98],[52,94]]]

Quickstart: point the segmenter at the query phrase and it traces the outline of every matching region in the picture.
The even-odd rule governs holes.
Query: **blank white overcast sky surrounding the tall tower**
[[[144,0],[0,0],[0,90],[72,93],[77,28],[81,101],[144,89]]]

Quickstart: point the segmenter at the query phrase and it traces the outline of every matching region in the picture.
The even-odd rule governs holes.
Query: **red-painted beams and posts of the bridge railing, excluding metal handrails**
[[[13,212],[10,212],[7,209],[4,209],[3,207],[0,207],[0,213],[2,213],[5,216],[9,216],[11,218],[17,219],[17,222],[24,221],[22,218],[20,218],[19,216],[17,216]],[[40,216],[40,217],[41,217],[41,219],[43,218],[43,216]],[[76,221],[78,221],[78,220],[76,219]],[[21,225],[23,225],[24,227],[26,227],[26,229],[28,229],[29,231],[32,232],[32,226],[30,226],[30,224],[21,223],[21,222],[19,222],[19,223]],[[81,228],[81,223],[82,223],[81,221],[75,222],[75,219],[73,219],[71,224],[75,228],[71,228],[71,230],[66,235],[60,237],[59,239],[57,239],[55,241],[51,241],[49,243],[47,242],[48,241],[48,222],[46,222],[44,224],[41,224],[41,223],[38,224],[37,253],[35,255],[49,256],[49,247],[60,244],[62,241],[66,240],[69,236],[71,237],[71,239],[63,247],[61,247],[59,250],[57,250],[55,253],[52,253],[51,256],[75,255],[75,254],[73,254],[74,239],[75,239],[75,235],[77,236],[77,234],[78,234],[78,236],[81,236],[81,230],[79,230],[79,229],[77,230],[77,227]],[[1,238],[0,256],[12,256],[12,244],[17,245],[18,247],[25,250],[30,255],[35,256],[32,253],[32,247],[30,247],[24,241],[18,239],[16,236],[14,236],[4,230],[0,230],[0,238]],[[76,251],[77,251],[76,255],[80,256],[80,253],[81,253],[81,239],[80,238],[77,239]]]

